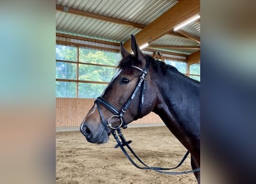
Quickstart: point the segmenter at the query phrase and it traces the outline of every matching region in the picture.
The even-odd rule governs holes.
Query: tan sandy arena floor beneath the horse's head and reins
[[[125,139],[149,166],[174,167],[186,153],[185,147],[166,127],[127,128]],[[139,170],[114,149],[110,136],[106,144],[91,144],[79,131],[56,132],[56,183],[197,183],[193,173],[166,175]],[[176,171],[191,170],[190,155]]]

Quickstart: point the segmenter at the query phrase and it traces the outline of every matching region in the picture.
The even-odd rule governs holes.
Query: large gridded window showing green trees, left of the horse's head
[[[119,53],[56,45],[56,97],[97,98],[120,59]]]

